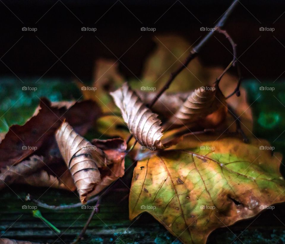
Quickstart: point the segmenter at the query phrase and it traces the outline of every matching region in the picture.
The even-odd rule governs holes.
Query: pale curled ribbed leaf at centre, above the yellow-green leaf
[[[111,92],[115,104],[120,108],[124,121],[130,132],[141,145],[163,148],[161,142],[162,127],[157,114],[147,108],[127,83]]]

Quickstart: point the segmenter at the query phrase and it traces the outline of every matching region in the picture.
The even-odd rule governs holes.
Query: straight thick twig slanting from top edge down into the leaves
[[[224,13],[224,15],[221,17],[219,22],[214,26],[214,29],[219,29],[224,26],[224,23],[226,22],[227,18],[231,14],[232,10],[235,8],[235,6],[238,4],[238,0],[233,1],[232,5],[227,9],[227,11]],[[171,85],[172,81],[175,79],[175,77],[186,68],[186,66],[190,63],[192,59],[194,59],[197,54],[200,52],[200,49],[205,45],[206,42],[210,39],[210,37],[213,35],[214,31],[209,31],[208,34],[196,45],[190,52],[189,56],[186,58],[184,63],[179,66],[179,68],[170,74],[169,79],[165,83],[165,85],[161,88],[161,90],[157,93],[157,95],[153,98],[153,100],[148,104],[148,107],[151,108],[156,101],[160,98],[160,96],[166,91],[169,86]]]

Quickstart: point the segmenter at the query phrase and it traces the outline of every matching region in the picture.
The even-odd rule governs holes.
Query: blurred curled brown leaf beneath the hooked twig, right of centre
[[[187,125],[197,121],[202,121],[205,124],[203,120],[207,120],[206,117],[216,111],[219,113],[214,118],[218,118],[218,122],[221,122],[226,117],[227,103],[218,85],[200,87],[187,97],[180,109],[170,119],[169,124]],[[214,118],[211,119],[214,120]],[[210,125],[208,125],[209,127]]]

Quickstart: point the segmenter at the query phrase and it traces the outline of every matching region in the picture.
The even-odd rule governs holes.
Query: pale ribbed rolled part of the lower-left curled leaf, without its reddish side
[[[98,167],[106,165],[105,154],[92,145],[64,122],[56,131],[56,141],[61,155],[69,168],[82,203],[100,183]]]

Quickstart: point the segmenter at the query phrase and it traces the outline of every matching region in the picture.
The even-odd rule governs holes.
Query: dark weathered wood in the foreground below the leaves
[[[61,230],[61,234],[57,235],[42,220],[33,217],[32,209],[22,208],[23,205],[35,206],[30,202],[20,200],[25,199],[27,193],[40,197],[41,201],[53,205],[79,202],[74,193],[54,189],[46,190],[46,188],[11,186],[11,189],[6,188],[1,191],[1,237],[40,243],[71,243],[75,239],[87,221],[91,209],[79,207],[68,210],[49,210],[38,207],[42,215]],[[129,221],[128,201],[125,199],[120,202],[125,194],[125,192],[117,192],[103,200],[100,213],[94,216],[86,232],[86,238],[81,243],[160,244],[173,241],[176,244],[180,243],[148,214],[143,214],[133,222]],[[236,236],[240,240],[236,239],[234,243],[265,243],[267,240],[272,240],[272,243],[282,243],[278,241],[278,238],[285,237],[284,207],[284,204],[276,205],[274,210],[262,212],[257,219],[252,218],[240,221],[228,228],[217,229],[210,235],[208,243],[221,243],[221,240],[223,243],[232,243]],[[276,235],[277,240],[273,240],[273,236]]]

